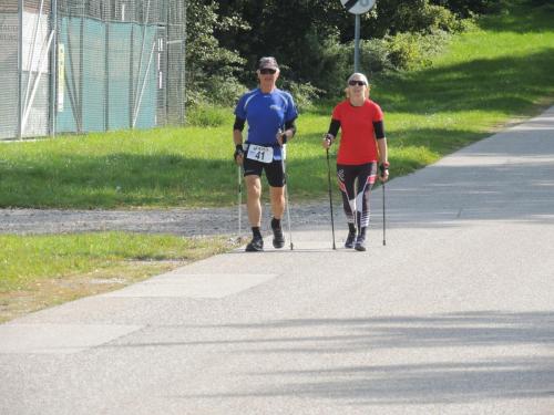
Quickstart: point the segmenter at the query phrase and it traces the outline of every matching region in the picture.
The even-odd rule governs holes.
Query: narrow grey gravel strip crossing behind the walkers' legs
[[[335,215],[337,216],[337,208]],[[264,206],[263,231],[269,231],[269,221],[270,208]],[[329,224],[329,205],[325,200],[291,205],[290,221],[295,228]],[[238,211],[236,207],[164,210],[0,209],[0,234],[106,230],[183,236],[237,235]],[[245,206],[242,209],[242,230],[243,234],[249,232]]]

